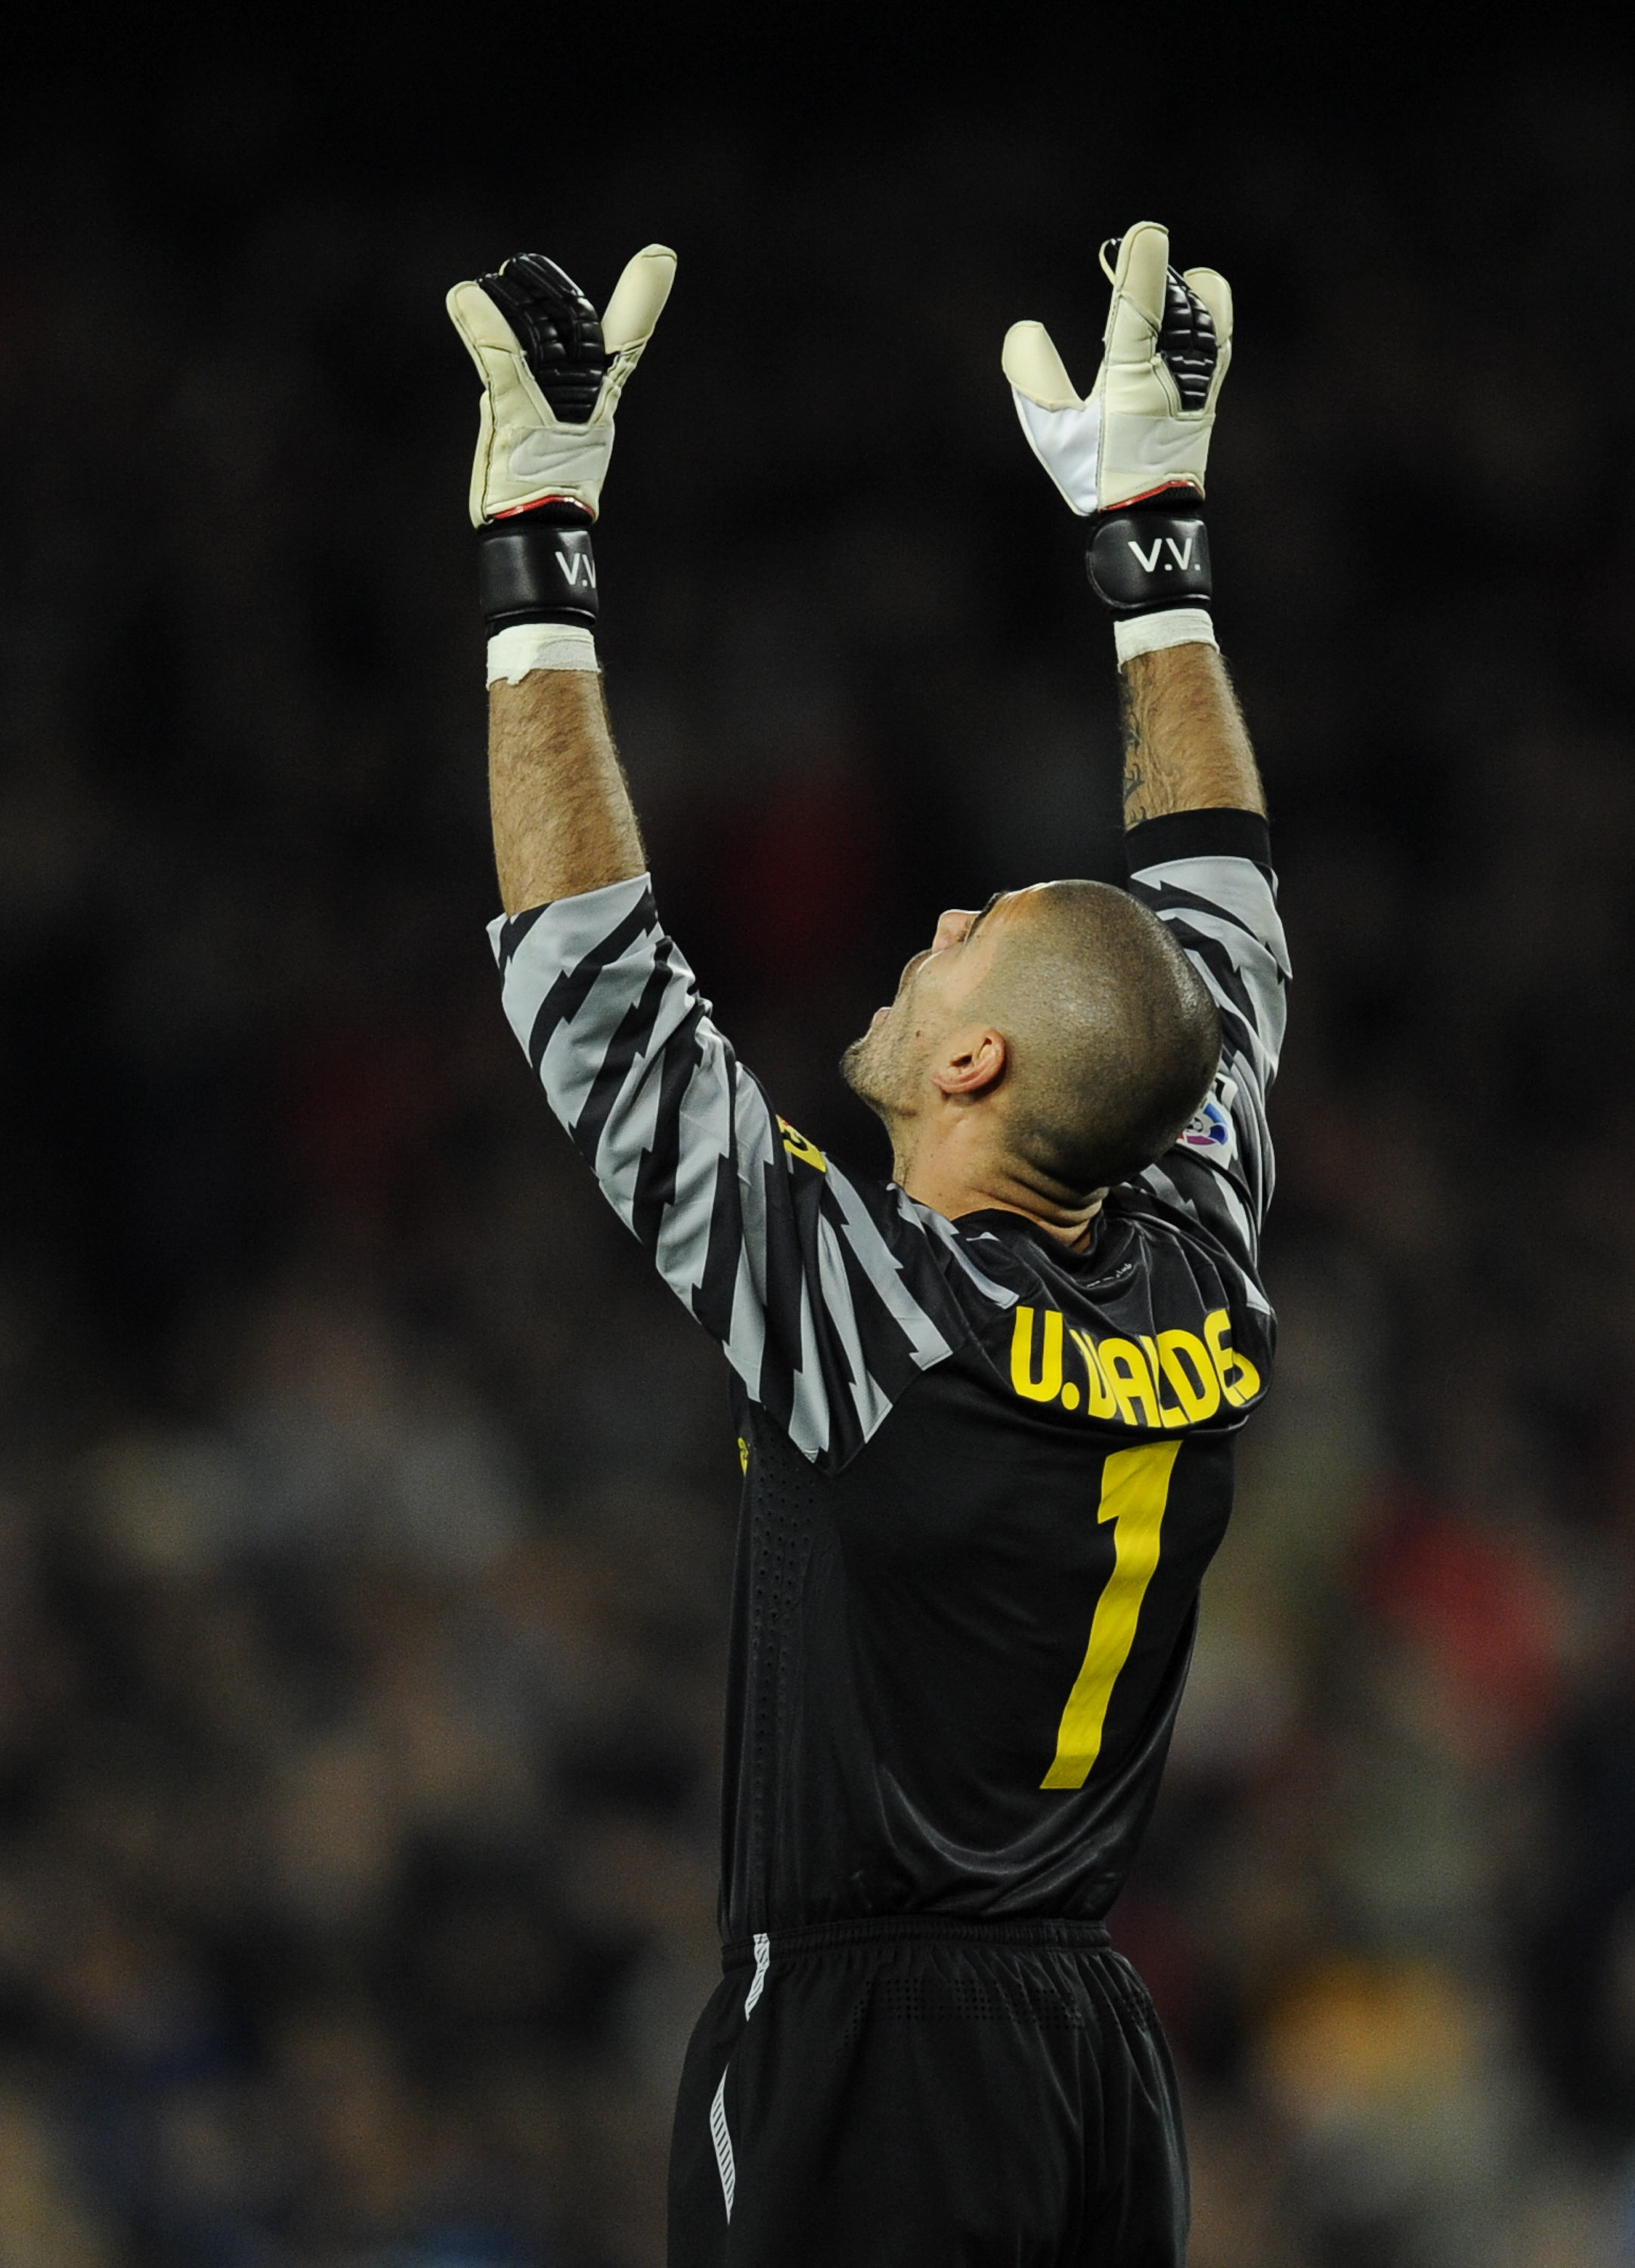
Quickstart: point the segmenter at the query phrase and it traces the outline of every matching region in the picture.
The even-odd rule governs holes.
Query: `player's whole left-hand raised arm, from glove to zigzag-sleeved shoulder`
[[[964,1263],[950,1222],[855,1184],[778,1118],[646,882],[601,696],[590,528],[612,404],[671,268],[658,245],[637,254],[601,327],[533,254],[449,295],[483,374],[472,519],[506,907],[490,939],[510,1025],[603,1195],[748,1399],[839,1465],[964,1336],[948,1286]]]

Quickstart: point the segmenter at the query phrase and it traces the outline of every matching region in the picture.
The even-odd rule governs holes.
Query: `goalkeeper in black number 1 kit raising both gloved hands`
[[[1005,340],[1113,615],[1129,887],[941,916],[844,1059],[884,1182],[712,1023],[608,730],[590,531],[674,265],[637,254],[601,322],[535,254],[449,295],[483,376],[506,1014],[737,1402],[723,1982],[669,2259],[1170,2268],[1175,2073],[1104,1914],[1272,1354],[1286,964],[1202,519],[1231,295],[1143,222],[1102,254],[1088,399],[1039,324]]]

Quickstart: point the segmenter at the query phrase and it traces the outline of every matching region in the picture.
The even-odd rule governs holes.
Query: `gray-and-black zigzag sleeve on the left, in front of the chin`
[[[748,1395],[837,1470],[966,1336],[950,1225],[785,1134],[646,878],[497,921],[490,939],[506,1016],[603,1195]]]

